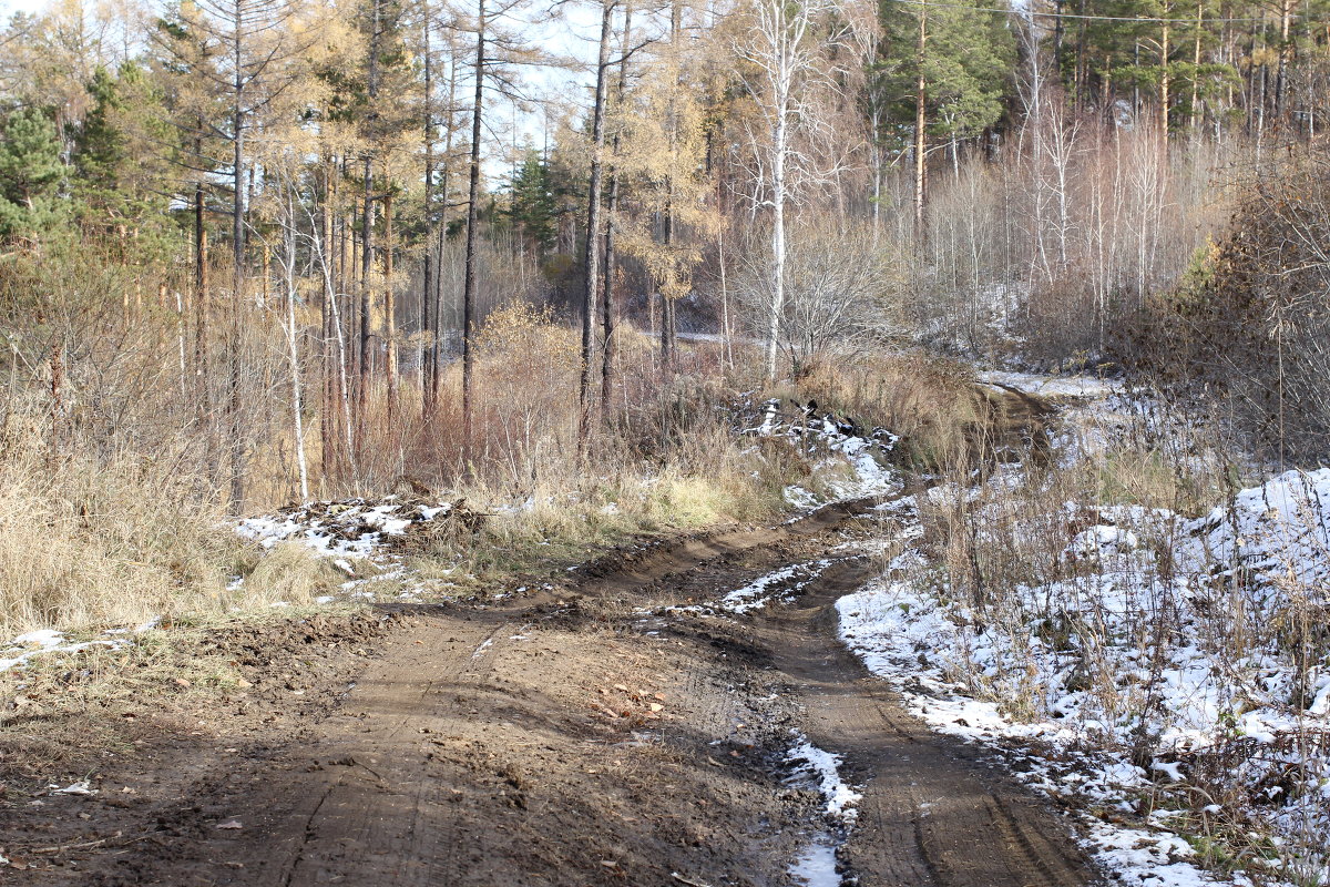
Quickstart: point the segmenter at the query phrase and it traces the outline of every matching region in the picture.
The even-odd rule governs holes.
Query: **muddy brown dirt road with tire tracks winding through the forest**
[[[219,711],[196,739],[109,759],[97,795],[8,809],[0,836],[27,868],[0,879],[797,884],[791,863],[835,832],[790,779],[806,735],[863,794],[841,883],[1088,883],[1057,814],[907,717],[837,640],[834,601],[872,569],[847,544],[890,532],[878,513],[827,508],[609,557],[535,597],[398,610],[359,673],[314,669],[234,701],[243,729]],[[702,605],[810,563],[786,602]]]

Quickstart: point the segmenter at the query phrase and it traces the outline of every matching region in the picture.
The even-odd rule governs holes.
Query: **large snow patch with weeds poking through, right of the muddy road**
[[[912,505],[895,513],[918,539]],[[1073,503],[1061,519],[1056,581],[972,602],[907,548],[838,602],[845,642],[931,727],[1021,758],[1033,789],[1145,819],[1087,817],[1125,883],[1212,883],[1184,839],[1210,832],[1266,883],[1330,880],[1330,469],[1198,519]]]

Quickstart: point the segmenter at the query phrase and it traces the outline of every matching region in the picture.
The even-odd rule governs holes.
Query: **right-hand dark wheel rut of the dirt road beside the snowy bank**
[[[971,746],[910,717],[837,634],[835,601],[872,578],[863,559],[826,570],[757,636],[806,707],[810,741],[863,783],[842,860],[861,886],[1072,887],[1093,879],[1067,824]]]

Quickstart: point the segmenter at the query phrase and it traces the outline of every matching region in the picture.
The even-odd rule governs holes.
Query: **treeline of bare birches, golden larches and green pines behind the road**
[[[60,0],[0,35],[9,422],[239,508],[519,476],[680,374],[1099,359],[1317,150],[1321,7]]]

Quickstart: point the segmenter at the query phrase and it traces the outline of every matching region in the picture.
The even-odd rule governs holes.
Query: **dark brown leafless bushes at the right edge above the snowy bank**
[[[1152,299],[1124,362],[1174,394],[1200,395],[1260,452],[1330,455],[1330,154],[1315,149],[1245,186],[1218,245]]]

